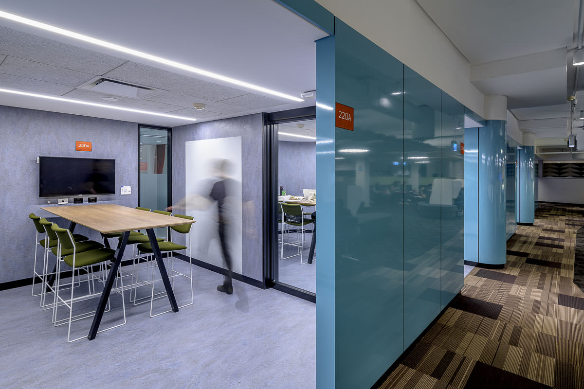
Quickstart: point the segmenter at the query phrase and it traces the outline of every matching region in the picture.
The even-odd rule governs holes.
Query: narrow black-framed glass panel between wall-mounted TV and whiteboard
[[[171,205],[171,129],[139,127],[138,149],[138,205],[165,211]],[[166,236],[166,229],[156,230],[158,237]]]

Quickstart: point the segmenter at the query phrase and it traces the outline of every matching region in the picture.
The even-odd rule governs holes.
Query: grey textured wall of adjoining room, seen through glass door
[[[278,181],[287,195],[317,188],[317,143],[284,142],[278,147]]]

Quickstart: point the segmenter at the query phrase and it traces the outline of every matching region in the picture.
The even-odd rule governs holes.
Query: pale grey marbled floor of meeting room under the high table
[[[53,327],[50,311],[39,308],[30,287],[0,292],[0,387],[316,386],[315,304],[237,281],[228,296],[215,290],[220,275],[193,271],[192,306],[151,318],[149,304],[128,306],[126,293],[126,325],[72,344],[66,326]],[[177,280],[175,290],[179,304],[190,299],[186,283]],[[142,288],[138,297],[147,294]],[[121,296],[112,295],[105,325],[121,318]],[[155,309],[166,307],[168,300],[156,301]],[[90,324],[79,321],[72,328],[84,334]]]

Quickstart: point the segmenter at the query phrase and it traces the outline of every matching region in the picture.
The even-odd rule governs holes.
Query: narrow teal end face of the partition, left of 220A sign
[[[335,37],[317,41],[317,387],[335,385]],[[322,227],[321,227],[322,226]]]

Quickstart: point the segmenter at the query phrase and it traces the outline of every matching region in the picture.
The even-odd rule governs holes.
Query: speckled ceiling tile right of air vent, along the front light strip
[[[124,82],[168,90],[186,96],[219,101],[246,94],[242,90],[177,74],[148,65],[127,62],[105,74]]]

